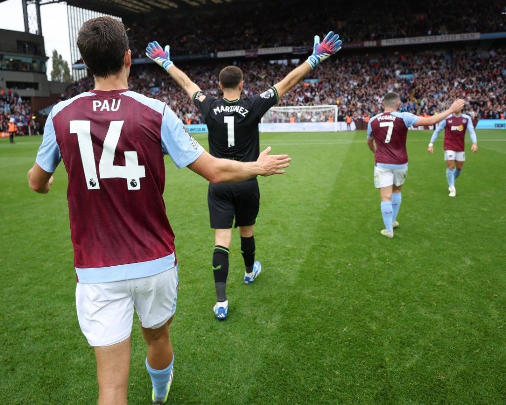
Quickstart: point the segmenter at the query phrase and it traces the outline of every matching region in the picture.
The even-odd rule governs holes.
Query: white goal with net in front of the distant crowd
[[[338,131],[338,106],[271,107],[260,132]]]

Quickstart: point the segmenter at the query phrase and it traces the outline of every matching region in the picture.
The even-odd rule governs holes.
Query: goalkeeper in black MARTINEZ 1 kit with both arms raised
[[[316,65],[338,52],[341,43],[339,35],[332,31],[321,43],[316,35],[313,54],[307,61],[264,93],[244,99],[241,98],[243,75],[238,67],[227,66],[220,72],[219,86],[223,91],[223,98],[217,99],[202,92],[197,84],[174,66],[168,45],[163,50],[158,42],[150,42],[146,55],[170,74],[200,110],[209,131],[209,153],[216,157],[248,162],[255,160],[259,154],[258,124],[262,116]],[[251,284],[262,271],[260,262],[255,260],[256,244],[253,232],[260,205],[257,179],[252,178],[235,185],[209,184],[207,203],[210,226],[215,229],[213,273],[217,301],[213,311],[219,321],[224,321],[228,314],[226,283],[234,217],[235,227],[239,227],[241,237],[245,266],[244,283]]]

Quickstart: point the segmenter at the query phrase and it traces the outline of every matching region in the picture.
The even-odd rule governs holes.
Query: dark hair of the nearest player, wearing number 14
[[[118,73],[129,50],[123,23],[111,17],[97,17],[82,24],[77,34],[77,48],[83,62],[94,76]]]

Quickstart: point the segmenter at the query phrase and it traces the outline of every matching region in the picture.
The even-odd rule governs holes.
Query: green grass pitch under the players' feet
[[[263,272],[250,286],[234,231],[223,323],[207,183],[166,158],[180,263],[171,403],[506,403],[506,131],[478,130],[476,154],[467,139],[455,198],[430,133],[408,134],[393,239],[379,234],[365,132],[261,134],[293,160],[259,179]],[[40,142],[0,140],[0,404],[89,405],[95,359],[75,314],[65,168],[49,195],[26,181]],[[137,322],[132,340],[129,403],[149,403]]]

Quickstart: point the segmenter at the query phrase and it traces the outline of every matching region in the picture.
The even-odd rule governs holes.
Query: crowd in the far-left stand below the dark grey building
[[[32,120],[31,105],[22,100],[12,89],[0,88],[0,131],[7,132],[9,121],[17,126],[18,135],[38,133],[39,128]]]

